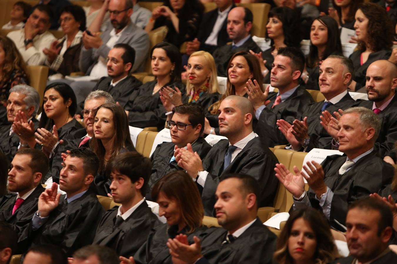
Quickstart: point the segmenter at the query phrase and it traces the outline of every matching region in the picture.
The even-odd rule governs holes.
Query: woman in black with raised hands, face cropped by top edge
[[[162,6],[153,9],[152,17],[145,27],[146,32],[167,26],[165,41],[179,47],[193,40],[198,32],[204,6],[199,0],[165,0]]]

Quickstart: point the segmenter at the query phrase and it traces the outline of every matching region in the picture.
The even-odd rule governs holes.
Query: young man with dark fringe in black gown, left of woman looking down
[[[102,217],[93,244],[108,246],[128,258],[146,242],[150,230],[160,224],[143,198],[152,165],[138,152],[125,152],[116,156],[108,168],[113,199],[121,205]]]

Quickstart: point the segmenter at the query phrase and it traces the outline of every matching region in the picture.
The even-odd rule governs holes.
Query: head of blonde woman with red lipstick
[[[220,93],[214,57],[206,51],[193,52],[187,61],[187,85],[186,93],[189,94],[189,103],[196,99],[191,91],[197,93],[202,89],[207,93]]]

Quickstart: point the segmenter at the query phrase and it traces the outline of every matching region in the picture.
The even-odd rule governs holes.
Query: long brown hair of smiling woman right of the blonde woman
[[[252,55],[251,53],[249,53],[247,51],[239,51],[239,52],[235,53],[231,57],[229,63],[227,64],[227,69],[229,69],[231,61],[233,61],[233,59],[237,56],[243,56],[245,58],[248,66],[249,66],[249,70],[252,72],[252,78],[251,78],[252,82],[254,80],[256,80],[259,84],[260,89],[262,90],[262,92],[264,92],[263,76],[262,76],[262,72],[260,71],[260,65],[259,65],[258,59],[256,59],[256,57],[254,55]],[[227,74],[227,84],[226,84],[225,93],[222,95],[221,99],[218,102],[213,103],[208,108],[208,111],[210,111],[211,114],[216,114],[216,112],[218,112],[219,106],[221,105],[222,101],[229,95],[236,95],[236,92],[235,92],[234,85],[230,83],[229,74]]]

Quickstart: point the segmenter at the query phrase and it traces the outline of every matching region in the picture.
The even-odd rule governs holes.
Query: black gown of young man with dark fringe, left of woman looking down
[[[117,255],[129,258],[146,242],[149,232],[161,222],[146,201],[113,230],[118,206],[108,210],[99,222],[93,244],[114,249]]]

